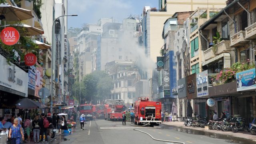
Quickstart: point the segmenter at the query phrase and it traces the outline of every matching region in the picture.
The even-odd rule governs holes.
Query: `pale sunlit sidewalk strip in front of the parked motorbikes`
[[[237,133],[234,133],[232,131],[228,131],[228,132],[223,132],[221,130],[204,130],[204,128],[198,128],[198,127],[192,127],[192,126],[185,126],[184,122],[163,122],[162,124],[164,125],[168,125],[168,126],[173,126],[174,129],[182,131],[188,131],[192,134],[203,134],[203,135],[215,135],[216,137],[228,137],[228,136],[232,136],[232,137],[237,137],[237,138],[245,138],[248,140],[253,140],[256,142],[256,136],[252,135],[250,132],[248,132],[247,130],[244,131],[238,131]],[[187,130],[186,130],[187,129]]]

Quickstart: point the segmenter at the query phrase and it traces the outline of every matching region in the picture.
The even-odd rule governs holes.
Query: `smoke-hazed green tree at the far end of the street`
[[[102,102],[110,95],[112,88],[113,81],[104,71],[86,74],[81,83],[81,103]]]

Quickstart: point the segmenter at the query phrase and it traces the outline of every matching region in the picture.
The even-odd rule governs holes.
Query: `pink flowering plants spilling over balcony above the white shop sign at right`
[[[249,70],[255,68],[254,63],[250,64],[250,60],[247,60],[247,63],[240,63],[236,62],[235,64],[232,64],[231,68],[225,68],[224,70],[221,70],[219,73],[217,73],[215,76],[212,76],[212,84],[213,86],[217,86],[220,84],[225,84],[229,82],[234,82],[236,80],[236,73],[242,72],[244,70]]]

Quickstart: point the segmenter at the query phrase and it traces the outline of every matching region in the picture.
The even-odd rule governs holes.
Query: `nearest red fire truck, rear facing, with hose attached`
[[[150,101],[147,97],[140,97],[134,105],[134,124],[150,123],[150,126],[159,126],[161,122],[161,102]]]

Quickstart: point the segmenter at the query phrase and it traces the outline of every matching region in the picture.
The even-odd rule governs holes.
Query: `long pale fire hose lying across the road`
[[[153,116],[152,116],[152,118],[153,118]],[[152,118],[151,118],[150,122],[152,121]],[[143,126],[148,125],[150,122],[148,122],[147,124],[145,124]],[[140,126],[140,127],[106,127],[106,128],[100,128],[100,129],[102,129],[102,130],[136,130],[136,131],[139,131],[139,132],[142,132],[144,134],[149,135],[153,140],[162,141],[162,142],[173,142],[173,143],[178,143],[178,144],[185,144],[185,142],[177,142],[177,141],[172,141],[172,140],[157,139],[157,138],[154,138],[153,136],[151,136],[149,133],[144,132],[142,130],[138,130],[137,128],[146,128],[146,127],[142,127],[142,126]],[[154,126],[152,128],[161,128],[161,127],[160,126]]]

